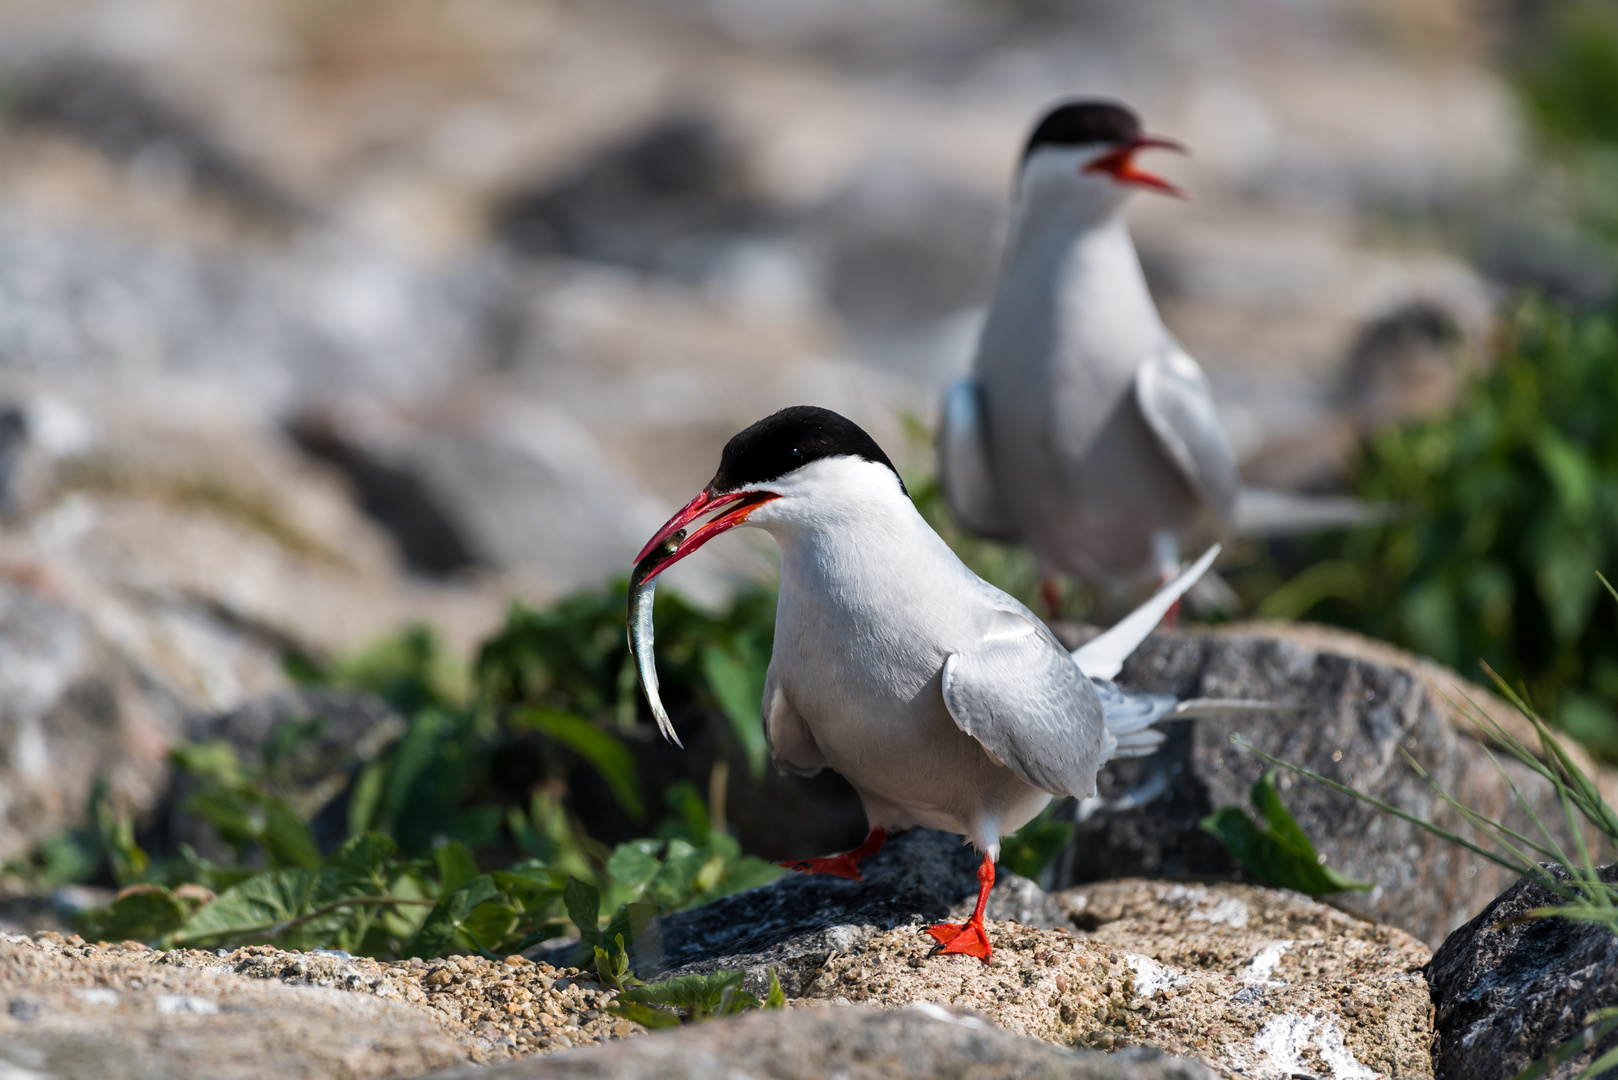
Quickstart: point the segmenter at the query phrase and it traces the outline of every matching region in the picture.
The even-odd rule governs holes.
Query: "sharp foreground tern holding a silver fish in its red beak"
[[[859,792],[870,836],[853,852],[786,863],[859,878],[896,829],[956,832],[982,853],[966,923],[929,926],[940,952],[990,957],[984,905],[1000,837],[1052,797],[1087,798],[1112,758],[1150,753],[1163,716],[1252,703],[1181,703],[1110,680],[1209,551],[1078,653],[972,573],[927,525],[893,463],[853,421],[794,406],[735,436],[707,487],[641,551],[629,646],[663,733],[650,594],[655,578],[720,533],[760,528],[781,551],[764,732],[785,772],[835,769]],[[1217,549],[1215,549],[1217,551]]]

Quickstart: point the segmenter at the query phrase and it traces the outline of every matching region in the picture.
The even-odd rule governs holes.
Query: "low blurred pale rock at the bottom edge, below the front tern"
[[[434,1080],[1204,1080],[1196,1062],[1154,1052],[1073,1051],[1000,1031],[958,1010],[790,1009],[717,1020],[621,1046],[574,1051]]]

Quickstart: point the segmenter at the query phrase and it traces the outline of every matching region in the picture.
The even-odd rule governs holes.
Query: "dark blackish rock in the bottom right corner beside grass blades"
[[[1618,881],[1618,866],[1602,868],[1602,881]],[[1514,1077],[1568,1041],[1590,1012],[1618,1006],[1618,938],[1610,929],[1560,918],[1511,923],[1560,902],[1518,881],[1434,954],[1427,984],[1438,1017],[1440,1080]],[[1613,1046],[1618,1035],[1547,1075],[1568,1080]]]

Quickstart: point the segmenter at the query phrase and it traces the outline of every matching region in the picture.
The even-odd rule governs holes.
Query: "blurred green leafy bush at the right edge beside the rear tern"
[[[1233,575],[1257,612],[1351,627],[1451,667],[1484,659],[1555,722],[1618,758],[1618,322],[1544,300],[1506,316],[1498,356],[1453,413],[1380,432],[1359,494],[1409,508],[1324,536],[1290,575]]]

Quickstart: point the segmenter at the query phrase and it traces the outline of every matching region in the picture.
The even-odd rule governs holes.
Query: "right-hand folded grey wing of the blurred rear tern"
[[[1170,342],[1136,369],[1134,400],[1191,489],[1230,521],[1241,474],[1214,411],[1214,390],[1197,361]]]

